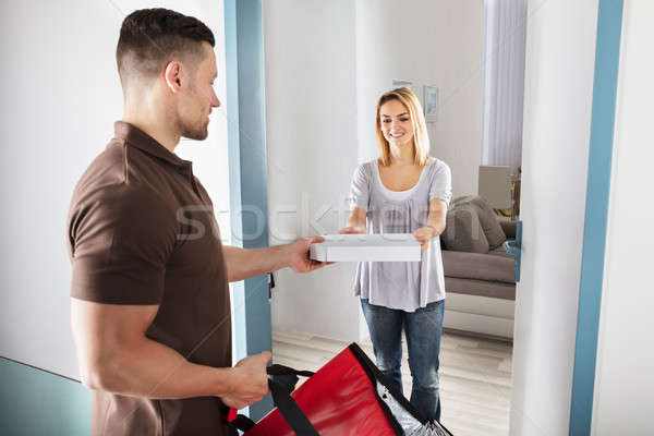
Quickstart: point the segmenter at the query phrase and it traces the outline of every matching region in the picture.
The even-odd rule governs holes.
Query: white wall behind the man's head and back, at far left
[[[195,1],[180,12],[205,21],[222,65],[222,2]],[[116,5],[116,7],[114,7]],[[3,1],[0,52],[0,355],[77,376],[70,332],[65,219],[77,179],[122,117],[116,44],[125,13],[153,1]],[[217,209],[229,204],[227,129],[216,112],[209,140],[178,148],[196,161]],[[223,227],[226,227],[223,221]],[[229,226],[229,221],[227,221]],[[226,229],[227,230],[227,229]]]

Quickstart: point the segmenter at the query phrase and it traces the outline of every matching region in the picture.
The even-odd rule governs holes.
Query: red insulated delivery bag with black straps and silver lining
[[[424,419],[356,343],[315,374],[281,365],[268,374],[276,408],[257,423],[230,410],[233,435],[452,436]],[[310,378],[293,391],[299,375]]]

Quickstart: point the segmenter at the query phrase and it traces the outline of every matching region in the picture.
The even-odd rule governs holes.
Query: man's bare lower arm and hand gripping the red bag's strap
[[[191,363],[145,336],[157,311],[157,305],[71,299],[82,383],[92,389],[155,399],[215,396],[239,409],[268,392],[269,352],[246,358],[233,368]]]

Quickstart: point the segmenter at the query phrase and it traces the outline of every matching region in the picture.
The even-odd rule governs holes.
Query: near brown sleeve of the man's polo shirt
[[[177,238],[174,211],[144,187],[101,187],[71,207],[71,296],[159,304]]]

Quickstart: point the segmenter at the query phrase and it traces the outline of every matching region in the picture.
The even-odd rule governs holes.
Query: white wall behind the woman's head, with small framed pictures
[[[483,0],[356,2],[359,159],[378,156],[375,109],[393,78],[439,88],[432,155],[452,170],[455,196],[476,194],[482,142]],[[421,96],[422,100],[422,96]]]

